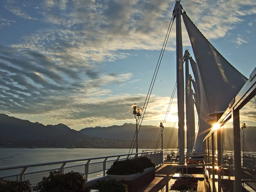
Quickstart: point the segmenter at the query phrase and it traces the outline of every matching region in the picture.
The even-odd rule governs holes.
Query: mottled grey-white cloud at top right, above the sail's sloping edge
[[[253,0],[191,0],[182,2],[182,5],[187,15],[208,39],[226,36],[236,24],[244,22],[242,16],[256,13],[256,3]]]

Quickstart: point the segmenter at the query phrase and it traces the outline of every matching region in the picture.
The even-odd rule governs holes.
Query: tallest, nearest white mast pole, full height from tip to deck
[[[176,1],[174,10],[176,18],[176,58],[177,58],[177,96],[178,96],[178,134],[179,134],[179,161],[185,157],[185,110],[184,110],[184,70],[183,70],[183,51],[181,33],[181,14],[180,1]]]

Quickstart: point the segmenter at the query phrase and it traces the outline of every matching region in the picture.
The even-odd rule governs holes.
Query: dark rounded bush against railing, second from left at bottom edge
[[[39,192],[89,192],[86,187],[86,180],[82,173],[69,172],[60,174],[58,171],[51,171],[49,177],[43,177],[38,187],[33,191]]]

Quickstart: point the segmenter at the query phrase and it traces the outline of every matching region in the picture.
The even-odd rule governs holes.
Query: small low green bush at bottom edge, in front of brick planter
[[[98,189],[100,192],[127,192],[127,186],[121,181],[117,181],[115,179],[106,179],[99,181],[95,184],[95,188]]]

